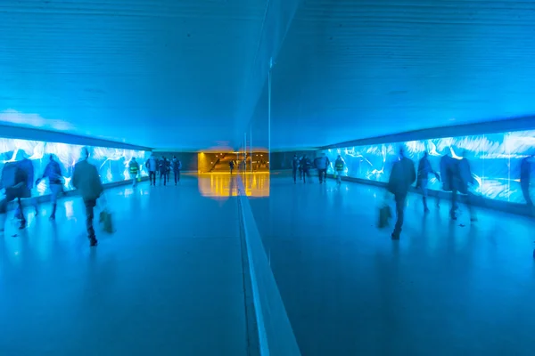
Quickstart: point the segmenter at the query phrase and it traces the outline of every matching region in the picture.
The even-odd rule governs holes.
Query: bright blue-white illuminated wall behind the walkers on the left
[[[34,164],[34,175],[37,179],[45,171],[45,166],[49,162],[49,156],[52,154],[62,167],[66,190],[72,190],[70,177],[74,165],[80,158],[82,147],[84,146],[0,138],[0,172],[5,162],[19,160],[23,156],[26,156]],[[144,167],[145,160],[150,156],[150,152],[148,151],[86,147],[90,152],[89,161],[98,168],[103,183],[120,182],[130,179],[128,164],[133,157],[137,159],[140,165],[141,175],[148,175]],[[34,194],[46,194],[47,185],[47,180],[40,182]]]

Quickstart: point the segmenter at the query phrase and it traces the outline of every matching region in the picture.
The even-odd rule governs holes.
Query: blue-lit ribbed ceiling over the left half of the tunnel
[[[0,123],[158,148],[231,141],[266,4],[3,0]]]

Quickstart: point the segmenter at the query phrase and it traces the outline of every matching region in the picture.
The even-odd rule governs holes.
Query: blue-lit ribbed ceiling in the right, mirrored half
[[[534,54],[532,1],[305,0],[273,69],[272,148],[535,114]]]

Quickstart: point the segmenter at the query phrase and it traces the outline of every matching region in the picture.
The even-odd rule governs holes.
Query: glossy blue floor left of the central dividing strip
[[[237,203],[199,185],[109,190],[117,231],[96,248],[79,198],[56,223],[47,205],[25,231],[8,221],[0,355],[246,354]]]

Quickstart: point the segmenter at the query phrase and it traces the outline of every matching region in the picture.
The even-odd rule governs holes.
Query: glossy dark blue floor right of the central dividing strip
[[[399,242],[375,228],[383,190],[271,178],[251,200],[303,355],[531,355],[532,220],[408,199]]]

